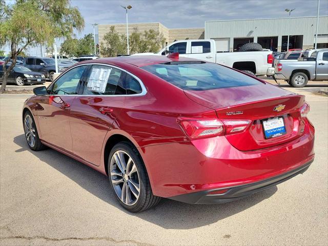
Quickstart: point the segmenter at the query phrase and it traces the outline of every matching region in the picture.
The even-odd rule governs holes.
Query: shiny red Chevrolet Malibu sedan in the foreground
[[[29,147],[108,175],[131,212],[161,197],[239,199],[314,159],[304,96],[175,53],[83,61],[34,94],[23,108]]]

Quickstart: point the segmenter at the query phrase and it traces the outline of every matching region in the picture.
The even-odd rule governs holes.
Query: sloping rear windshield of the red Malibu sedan
[[[260,81],[230,68],[213,63],[156,64],[141,67],[183,90],[213,90],[228,87],[252,86]]]

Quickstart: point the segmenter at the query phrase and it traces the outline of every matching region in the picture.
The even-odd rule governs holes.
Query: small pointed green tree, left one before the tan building
[[[114,26],[104,35],[104,42],[100,43],[100,54],[105,57],[112,57],[127,53],[127,36],[119,34]]]

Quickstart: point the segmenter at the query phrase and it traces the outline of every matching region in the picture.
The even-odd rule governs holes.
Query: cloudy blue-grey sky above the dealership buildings
[[[132,6],[131,23],[160,22],[168,28],[204,27],[206,20],[287,17],[286,8],[296,8],[292,17],[317,15],[317,0],[71,0],[71,5],[85,18],[85,29],[76,33],[78,37],[92,33],[93,23],[125,23],[120,5]],[[320,15],[328,15],[328,0],[320,1]],[[40,51],[30,49],[30,54]]]

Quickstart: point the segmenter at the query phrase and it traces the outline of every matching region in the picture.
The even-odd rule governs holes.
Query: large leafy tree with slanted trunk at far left
[[[7,5],[0,0],[0,47],[9,45],[12,63],[3,65],[1,92],[7,85],[9,71],[17,56],[27,47],[52,45],[54,38],[69,37],[84,28],[84,19],[69,0],[16,0]]]

